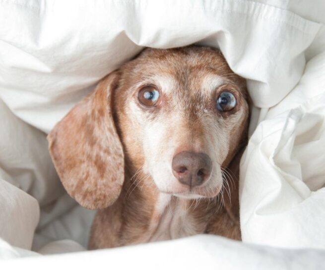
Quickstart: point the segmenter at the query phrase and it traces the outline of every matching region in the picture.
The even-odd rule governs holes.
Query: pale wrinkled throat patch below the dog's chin
[[[204,222],[195,218],[189,201],[160,194],[150,224],[148,242],[176,239],[203,233]]]

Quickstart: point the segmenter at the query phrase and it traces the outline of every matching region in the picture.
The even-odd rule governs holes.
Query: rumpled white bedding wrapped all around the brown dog
[[[241,162],[243,241],[325,249],[324,12],[323,0],[0,0],[0,257],[35,255],[29,262],[49,263],[84,258],[38,257],[84,249],[94,215],[65,193],[46,133],[143,47],[193,43],[220,48],[247,79],[255,105]],[[61,239],[70,240],[54,242]],[[273,249],[214,236],[182,241],[89,256],[171,256],[166,249],[180,245],[175,264],[188,258],[186,246],[225,269],[227,257],[248,269],[254,258],[285,265],[281,254],[317,264],[319,254],[325,258],[324,250]]]

